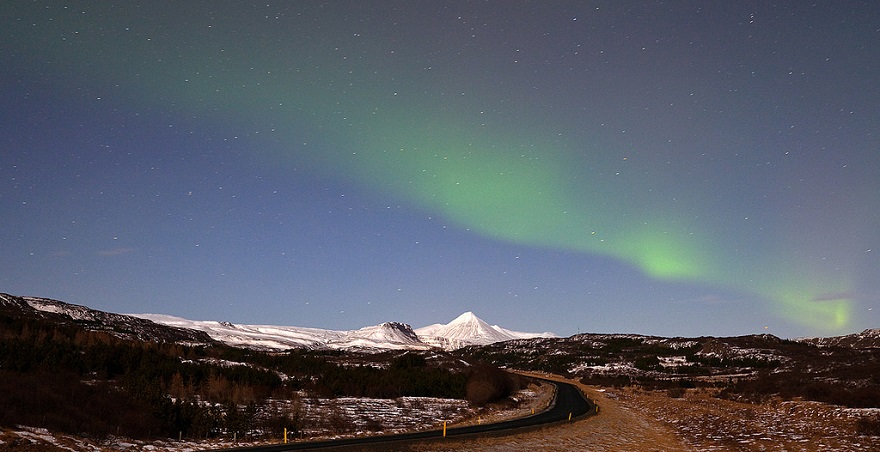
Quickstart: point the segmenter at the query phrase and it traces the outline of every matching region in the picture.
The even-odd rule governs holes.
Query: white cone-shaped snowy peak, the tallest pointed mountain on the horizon
[[[465,312],[455,320],[443,325],[436,323],[415,330],[422,342],[435,347],[453,350],[468,345],[487,345],[513,339],[556,337],[553,333],[520,333],[489,325],[473,312]]]

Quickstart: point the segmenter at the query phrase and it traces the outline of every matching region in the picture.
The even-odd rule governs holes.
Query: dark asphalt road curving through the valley
[[[464,435],[479,434],[499,434],[499,432],[513,431],[527,427],[552,424],[557,422],[567,422],[569,419],[578,419],[590,414],[596,413],[595,405],[587,400],[583,393],[574,385],[561,383],[550,380],[543,380],[546,383],[556,385],[555,403],[547,410],[536,413],[531,416],[511,419],[508,421],[496,422],[493,424],[469,425],[465,427],[454,427],[446,430],[447,437],[461,437]],[[365,438],[349,438],[328,441],[311,441],[297,442],[289,444],[277,444],[272,446],[259,447],[243,447],[237,449],[229,449],[229,451],[248,451],[248,452],[278,452],[288,450],[312,450],[326,448],[357,448],[381,446],[382,444],[401,443],[414,440],[427,440],[432,438],[442,438],[442,430],[430,430],[423,432],[402,433],[398,435],[379,435],[369,436]]]

